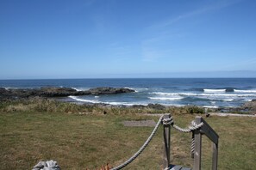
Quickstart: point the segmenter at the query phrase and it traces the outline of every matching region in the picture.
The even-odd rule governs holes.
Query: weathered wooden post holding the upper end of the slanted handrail
[[[195,119],[196,124],[201,123],[201,117]],[[195,154],[194,154],[194,170],[201,170],[201,153],[202,153],[202,135],[200,130],[195,131]]]

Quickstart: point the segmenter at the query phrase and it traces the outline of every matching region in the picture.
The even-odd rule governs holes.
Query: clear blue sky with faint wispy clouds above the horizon
[[[1,0],[0,79],[256,77],[254,0]]]

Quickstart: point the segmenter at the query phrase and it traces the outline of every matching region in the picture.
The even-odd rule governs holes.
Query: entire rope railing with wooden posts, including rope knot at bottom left
[[[159,125],[164,125],[164,164],[163,167],[165,170],[169,170],[170,167],[170,129],[171,126],[181,132],[189,133],[192,132],[192,140],[191,140],[191,155],[194,159],[194,167],[193,169],[201,170],[201,149],[202,149],[202,135],[204,134],[206,137],[213,142],[213,161],[212,161],[212,169],[217,170],[217,161],[218,161],[218,139],[219,136],[216,132],[203,120],[202,117],[197,117],[195,121],[192,121],[188,128],[181,128],[178,125],[174,124],[171,114],[161,115],[158,123],[155,125],[153,131],[150,136],[147,138],[147,141],[140,147],[140,149],[131,156],[127,161],[123,162],[117,167],[113,167],[110,170],[119,170],[123,167],[128,166],[132,161],[134,161],[144,149],[147,148],[148,144],[153,139],[156,131],[159,129]],[[195,147],[196,146],[196,147]],[[196,150],[196,152],[195,152]],[[194,152],[196,154],[194,154]],[[195,156],[195,157],[194,157]],[[178,166],[179,168],[179,166]],[[60,170],[59,165],[56,161],[40,161],[36,166],[34,166],[33,170],[40,169],[52,169],[52,170]],[[108,168],[109,169],[109,168]]]

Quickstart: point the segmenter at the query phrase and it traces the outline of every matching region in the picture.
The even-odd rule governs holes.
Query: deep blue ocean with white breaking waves
[[[65,100],[109,105],[197,105],[235,107],[256,99],[256,78],[136,78],[0,80],[2,88],[65,87],[86,90],[97,87],[132,88],[134,93],[69,96]]]

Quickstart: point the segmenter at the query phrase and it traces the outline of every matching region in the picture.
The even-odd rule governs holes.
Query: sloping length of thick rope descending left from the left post
[[[162,120],[163,120],[164,116],[161,116],[159,118],[159,122],[156,124],[156,126],[154,127],[151,135],[147,138],[147,141],[142,145],[142,147],[132,156],[128,159],[128,161],[123,162],[121,165],[117,166],[117,167],[113,167],[111,170],[118,170],[118,169],[122,169],[122,167],[126,167],[129,163],[131,163],[132,161],[134,161],[134,159],[136,159],[141,152],[146,149],[148,143],[150,143],[150,141],[152,140],[153,136],[155,135],[156,131],[159,128],[159,125],[161,124]]]

